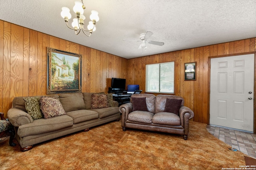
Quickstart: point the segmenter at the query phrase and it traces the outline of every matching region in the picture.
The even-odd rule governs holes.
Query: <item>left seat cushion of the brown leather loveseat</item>
[[[132,111],[128,114],[129,121],[136,121],[141,123],[152,123],[154,113],[148,111]]]

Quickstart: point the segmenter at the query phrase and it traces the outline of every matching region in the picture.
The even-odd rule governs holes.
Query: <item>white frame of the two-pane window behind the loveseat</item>
[[[165,62],[165,63],[154,63],[154,64],[146,64],[146,92],[148,92],[148,93],[164,93],[164,94],[174,94],[174,84],[175,84],[175,77],[174,77],[174,71],[173,71],[173,81],[171,81],[171,82],[173,82],[173,92],[160,92],[161,91],[161,84],[160,84],[160,71],[161,71],[161,64],[166,64],[166,63],[173,63],[173,67],[175,67],[175,63],[174,63],[174,61],[170,61],[170,62]],[[150,66],[150,65],[156,65],[156,64],[158,64],[159,65],[159,87],[158,87],[158,92],[155,92],[155,91],[148,91],[148,66]],[[174,68],[173,68],[174,69]],[[175,69],[174,69],[175,70]]]

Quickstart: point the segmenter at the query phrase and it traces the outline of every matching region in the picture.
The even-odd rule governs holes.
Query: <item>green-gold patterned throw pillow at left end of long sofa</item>
[[[40,111],[39,100],[40,96],[35,97],[24,97],[25,108],[28,114],[32,117],[33,120],[43,118],[43,114]]]

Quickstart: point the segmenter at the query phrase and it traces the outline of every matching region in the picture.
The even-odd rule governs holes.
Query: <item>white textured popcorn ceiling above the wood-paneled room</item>
[[[60,16],[74,0],[0,0],[0,20],[8,21],[126,59],[256,37],[256,0],[84,0],[100,20],[90,37],[75,35]],[[71,26],[70,19],[70,26]],[[154,34],[138,49],[139,36]],[[125,40],[125,41],[124,41]]]

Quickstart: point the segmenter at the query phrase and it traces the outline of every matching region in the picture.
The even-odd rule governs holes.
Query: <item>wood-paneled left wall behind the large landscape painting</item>
[[[14,97],[46,95],[46,47],[82,54],[82,92],[107,92],[112,77],[127,78],[128,59],[0,20],[0,112],[5,117]]]

